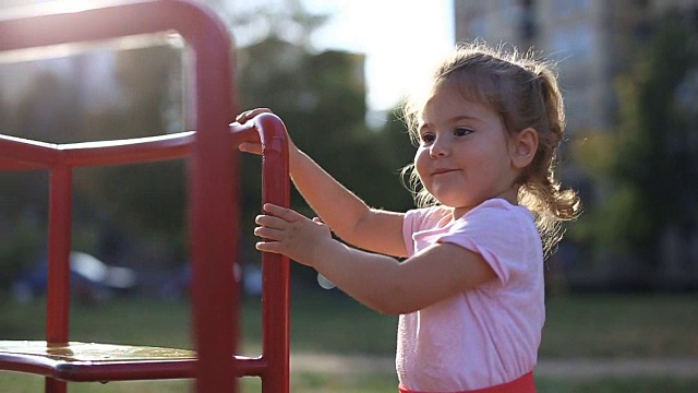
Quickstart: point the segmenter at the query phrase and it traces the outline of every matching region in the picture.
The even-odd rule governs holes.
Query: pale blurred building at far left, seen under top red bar
[[[47,7],[43,3],[48,1],[0,0],[0,13],[5,17],[27,15],[34,7]],[[61,2],[53,3],[55,9],[61,11]],[[75,129],[87,127],[83,124],[87,121],[85,114],[120,108],[124,97],[117,80],[119,52],[157,44],[161,45],[161,40],[152,43],[146,37],[131,37],[0,53],[0,103],[8,114],[13,114],[0,122],[2,133],[47,142],[74,142],[51,139],[57,133],[65,133],[56,130],[56,117],[60,116],[58,104],[67,106],[70,103],[76,109],[71,114],[71,126]],[[32,129],[45,131],[27,135],[26,123],[17,119],[20,112],[28,112],[33,118]]]

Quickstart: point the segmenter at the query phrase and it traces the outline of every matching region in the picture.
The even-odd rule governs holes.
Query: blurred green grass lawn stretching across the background
[[[8,299],[7,296],[1,298]],[[0,338],[40,340],[44,305],[0,303]],[[260,302],[246,300],[242,317],[243,353],[256,355],[261,336]],[[98,306],[75,305],[72,338],[85,342],[191,347],[186,301],[120,299]],[[377,314],[332,291],[293,293],[291,348],[390,357],[396,318]],[[698,295],[589,295],[551,299],[541,357],[698,358]],[[570,380],[538,378],[539,392],[698,392],[698,376]],[[243,392],[258,392],[257,379],[243,379]],[[0,392],[39,392],[43,379],[0,371]],[[189,392],[188,381],[71,384],[71,392]],[[363,370],[329,373],[303,370],[291,378],[292,392],[396,392],[394,372]]]

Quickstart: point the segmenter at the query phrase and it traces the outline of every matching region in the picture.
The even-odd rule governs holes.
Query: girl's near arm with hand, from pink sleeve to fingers
[[[450,243],[434,245],[404,262],[336,241],[327,227],[292,210],[267,204],[257,216],[256,248],[288,255],[317,270],[351,297],[376,311],[420,310],[496,277],[478,253]]]

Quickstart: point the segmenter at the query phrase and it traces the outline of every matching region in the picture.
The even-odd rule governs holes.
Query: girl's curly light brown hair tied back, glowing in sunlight
[[[504,51],[483,43],[461,44],[437,67],[428,97],[446,83],[456,87],[464,97],[493,108],[510,134],[526,128],[538,132],[535,156],[518,179],[518,203],[534,214],[543,248],[546,254],[550,253],[562,239],[561,222],[576,218],[581,207],[576,192],[562,190],[554,174],[557,148],[565,129],[563,98],[554,64],[534,59],[530,51]],[[419,141],[418,123],[424,103],[412,99],[402,106],[414,143]],[[404,168],[404,174],[407,172],[417,205],[437,204],[434,196],[421,187],[412,165]]]

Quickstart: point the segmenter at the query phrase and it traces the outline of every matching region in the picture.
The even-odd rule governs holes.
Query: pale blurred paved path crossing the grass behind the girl
[[[393,373],[395,360],[362,355],[292,354],[292,372]],[[698,358],[540,359],[537,376],[562,378],[674,377],[698,378]]]

